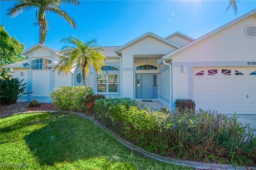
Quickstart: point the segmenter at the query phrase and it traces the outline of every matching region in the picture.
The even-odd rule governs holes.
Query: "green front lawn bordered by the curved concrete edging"
[[[1,169],[192,169],[132,152],[78,115],[20,114],[0,119],[0,128]]]

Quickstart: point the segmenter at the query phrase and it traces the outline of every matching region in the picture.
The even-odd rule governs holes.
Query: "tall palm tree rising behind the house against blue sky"
[[[36,19],[39,25],[39,43],[44,45],[47,34],[47,20],[45,14],[46,12],[53,12],[55,14],[58,14],[76,29],[75,21],[68,15],[67,12],[59,7],[60,4],[80,5],[80,2],[78,0],[21,0],[15,2],[14,6],[7,10],[7,15],[11,17],[16,17],[24,10],[26,11],[36,8]]]

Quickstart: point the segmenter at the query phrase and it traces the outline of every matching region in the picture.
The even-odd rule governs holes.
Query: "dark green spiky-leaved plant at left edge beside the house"
[[[1,104],[15,104],[20,96],[28,94],[23,93],[27,87],[25,86],[27,83],[22,84],[23,80],[10,78],[10,76],[1,78]]]

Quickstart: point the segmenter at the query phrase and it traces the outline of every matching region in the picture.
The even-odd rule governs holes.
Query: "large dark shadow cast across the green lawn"
[[[81,117],[77,115],[59,114],[46,126],[26,135],[24,139],[31,152],[38,158],[40,165],[52,166],[58,162],[75,162],[101,157],[110,158],[111,162],[118,164],[130,164],[112,159],[130,150],[124,149],[122,144],[113,143],[116,139],[91,121],[87,119],[81,121]]]

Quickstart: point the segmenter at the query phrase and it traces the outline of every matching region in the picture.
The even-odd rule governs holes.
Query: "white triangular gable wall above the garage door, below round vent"
[[[244,34],[245,27],[255,23],[255,17],[250,16],[175,54],[172,60],[173,62],[255,61],[256,40]]]

